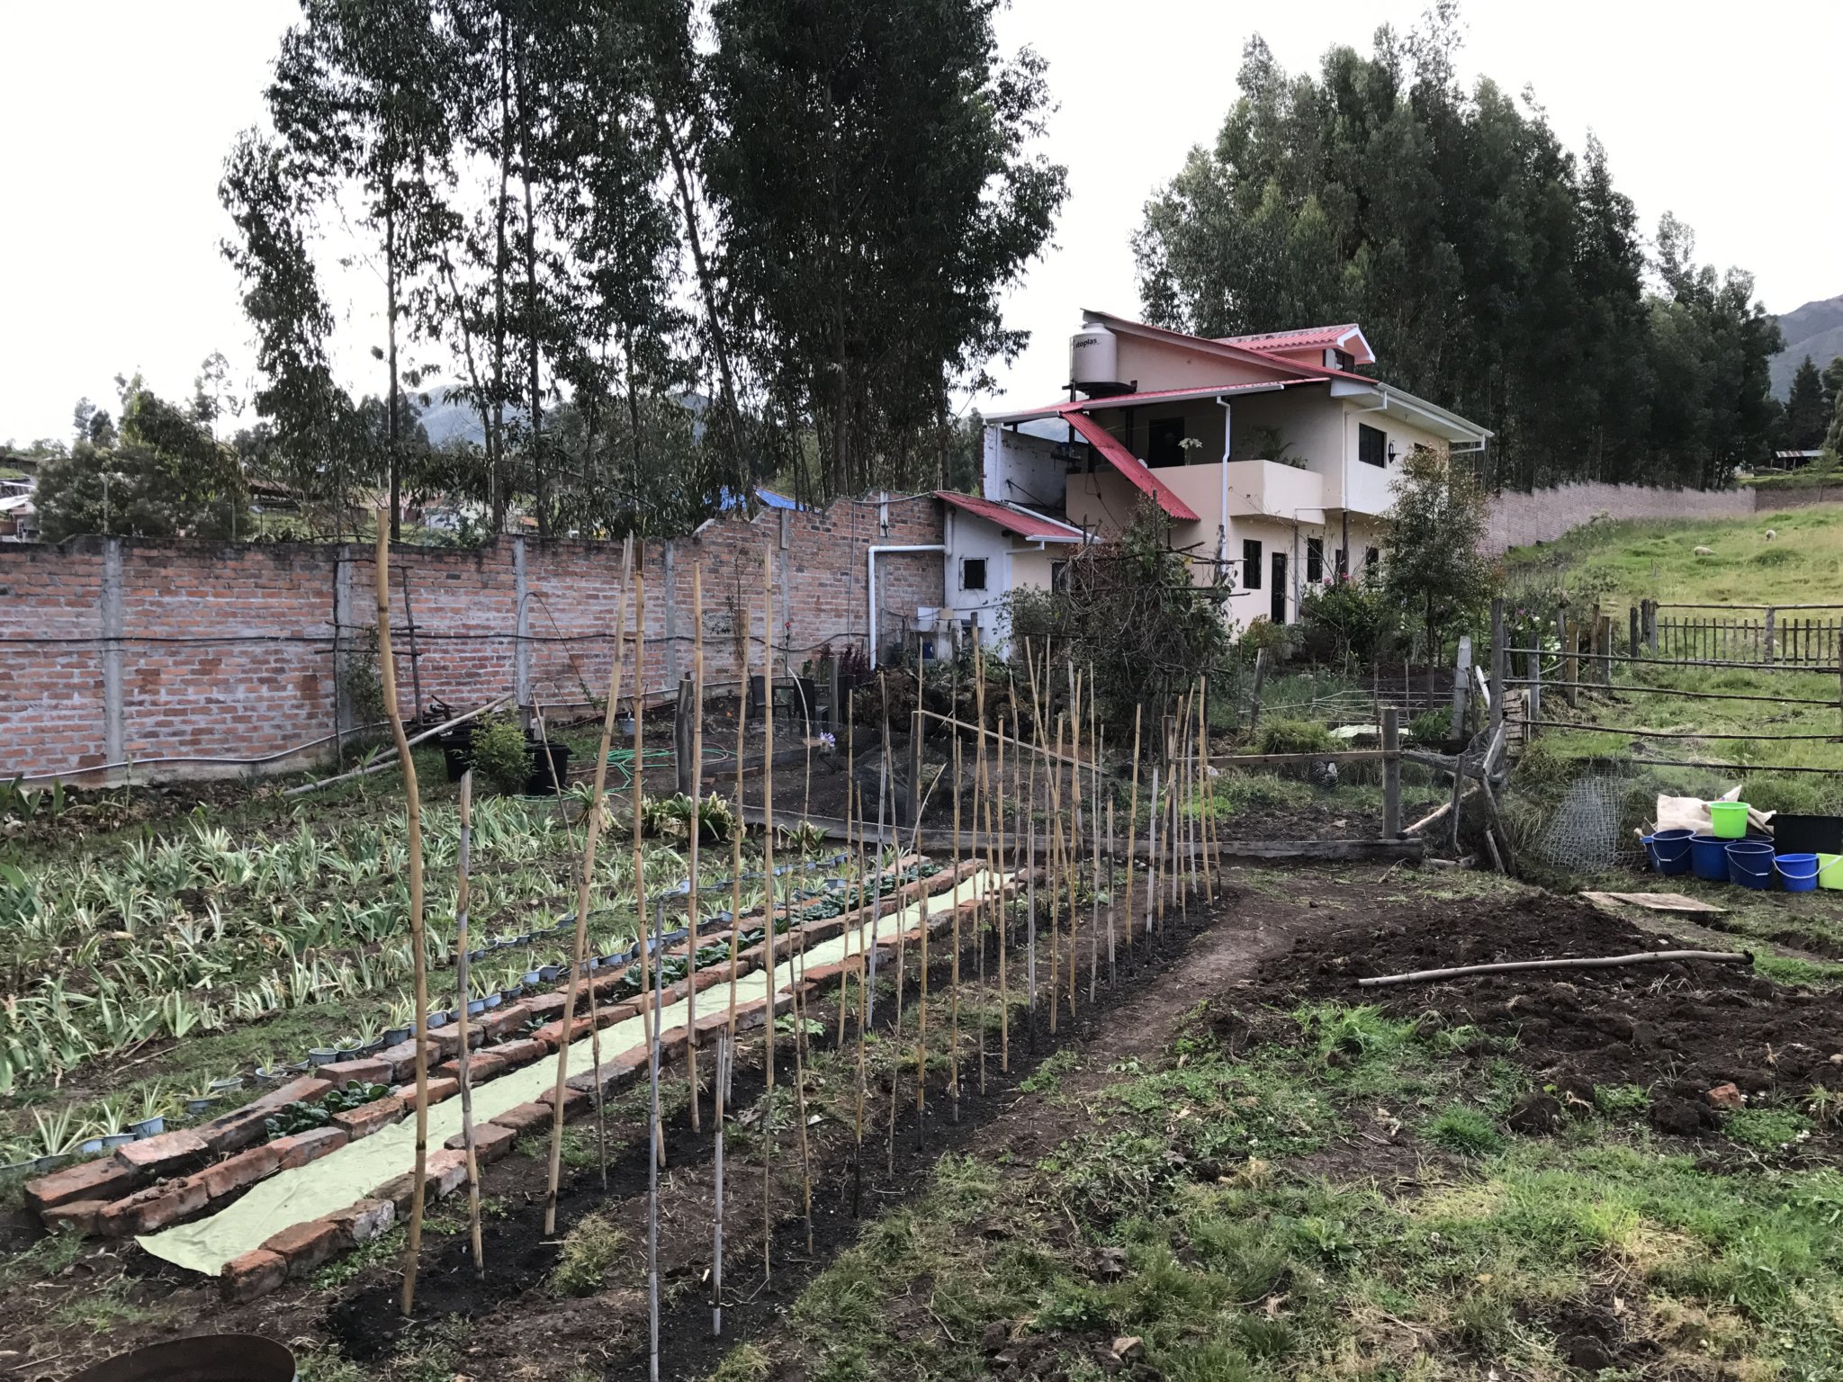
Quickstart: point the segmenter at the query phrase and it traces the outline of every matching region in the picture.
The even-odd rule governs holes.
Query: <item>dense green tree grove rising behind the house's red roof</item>
[[[1450,4],[1316,77],[1251,39],[1215,146],[1146,205],[1148,317],[1358,321],[1390,381],[1497,433],[1493,485],[1718,485],[1764,459],[1778,330],[1753,278],[1696,265],[1670,216],[1648,256],[1600,142],[1574,155],[1528,92],[1461,88],[1458,42]]]

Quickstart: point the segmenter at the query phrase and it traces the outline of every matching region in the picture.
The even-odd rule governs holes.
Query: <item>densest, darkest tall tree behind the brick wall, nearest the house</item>
[[[794,453],[815,498],[916,477],[949,387],[1021,343],[999,295],[1041,251],[1065,179],[1028,151],[1043,63],[999,55],[995,7],[711,9],[704,184],[732,339],[770,415],[811,429]]]

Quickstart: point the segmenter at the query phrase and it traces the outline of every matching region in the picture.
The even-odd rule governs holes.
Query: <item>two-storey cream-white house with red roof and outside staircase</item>
[[[1209,339],[1084,315],[1067,398],[988,418],[984,499],[942,494],[947,604],[1003,639],[1008,590],[1119,533],[1141,498],[1172,520],[1229,617],[1292,623],[1305,590],[1379,560],[1390,485],[1415,446],[1480,451],[1489,431],[1358,374],[1356,324]]]

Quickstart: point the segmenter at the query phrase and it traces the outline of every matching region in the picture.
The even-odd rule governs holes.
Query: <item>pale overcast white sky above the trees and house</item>
[[[1082,308],[1137,310],[1141,206],[1215,138],[1250,33],[1288,70],[1316,68],[1327,46],[1368,52],[1377,24],[1410,28],[1423,7],[1015,0],[999,33],[1049,59],[1049,151],[1071,195],[1054,247],[1006,302],[1032,345],[997,370],[1001,394],[1054,396]],[[216,188],[295,13],[293,0],[0,0],[0,440],[66,437],[77,396],[114,407],[118,372],[182,396],[212,350],[247,391]],[[1751,269],[1773,311],[1843,293],[1843,4],[1471,0],[1463,18],[1465,77],[1533,87],[1570,149],[1594,129],[1646,227],[1673,210],[1697,258]],[[374,295],[363,273],[345,282],[359,297],[341,304],[341,361],[358,369]],[[382,376],[348,383],[380,391]]]

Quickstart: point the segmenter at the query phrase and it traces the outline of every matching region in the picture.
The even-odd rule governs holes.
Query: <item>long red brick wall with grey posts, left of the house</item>
[[[737,680],[739,636],[761,665],[763,553],[776,566],[776,671],[798,671],[826,643],[864,647],[866,549],[940,542],[938,509],[925,496],[894,499],[885,533],[875,501],[840,501],[641,544],[647,691],[669,695],[691,669],[695,568],[715,691]],[[299,767],[328,752],[352,728],[335,662],[376,625],[372,566],[369,545],[0,544],[0,778],[125,761],[136,779],[205,776]],[[523,704],[586,706],[608,687],[619,577],[621,544],[499,538],[470,551],[394,549],[404,713],[415,680],[424,702],[455,708],[507,693]],[[940,553],[877,558],[885,647],[918,606],[942,599]],[[251,768],[249,759],[269,761]]]

